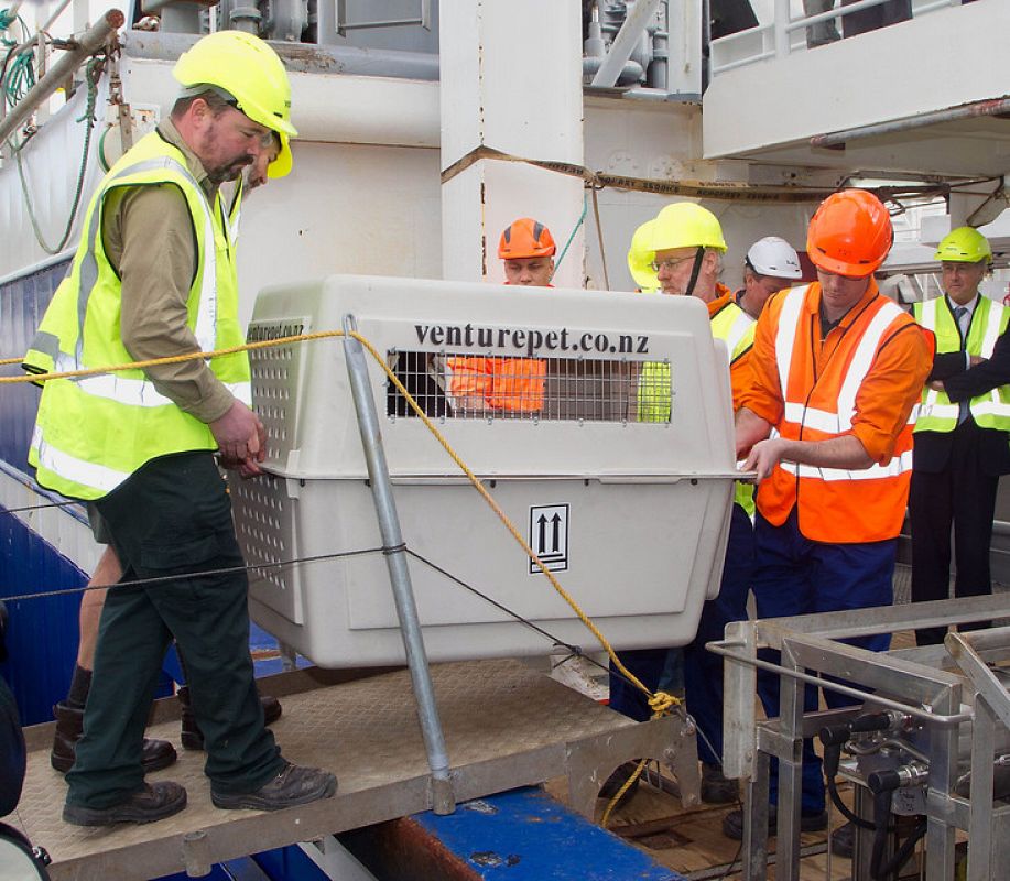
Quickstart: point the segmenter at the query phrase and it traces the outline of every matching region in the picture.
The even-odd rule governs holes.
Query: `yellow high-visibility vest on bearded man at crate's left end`
[[[133,360],[120,338],[121,287],[104,250],[102,213],[115,188],[166,183],[185,196],[197,243],[189,328],[202,351],[243,341],[231,241],[240,199],[226,215],[220,195],[211,204],[183,153],[152,132],[109,170],[91,198],[70,271],[46,309],[25,369],[82,370]],[[210,369],[237,399],[250,403],[246,352],[215,358]],[[160,394],[142,370],[121,370],[46,382],[29,461],[42,486],[90,500],[116,489],[150,459],[216,448],[210,428]]]

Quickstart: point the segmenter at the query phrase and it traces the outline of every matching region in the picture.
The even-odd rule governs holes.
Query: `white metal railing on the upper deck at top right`
[[[859,2],[841,6],[841,0],[834,0],[834,9],[793,18],[792,8],[800,6],[800,0],[774,0],[771,22],[713,41],[710,76],[714,78],[727,70],[745,67],[765,58],[784,58],[797,50],[806,51],[823,45],[821,42],[810,44],[807,29],[817,24],[840,21],[848,15],[881,7],[888,2],[891,0],[859,0]],[[919,18],[940,9],[960,6],[960,2],[962,0],[911,0],[910,18]],[[841,35],[836,33],[830,42],[840,39]]]

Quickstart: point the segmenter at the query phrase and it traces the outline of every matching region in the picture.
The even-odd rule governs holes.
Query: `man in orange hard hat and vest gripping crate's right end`
[[[780,291],[758,319],[753,384],[736,416],[737,456],[758,479],[758,618],[891,603],[913,409],[933,358],[912,317],[877,290],[873,272],[892,241],[891,218],[876,196],[833,194],[807,233],[817,281]],[[883,651],[889,637],[851,642]],[[769,718],[779,716],[778,682],[759,676]],[[829,690],[825,699],[832,707],[850,703]],[[806,688],[804,707],[817,709],[815,688]],[[770,795],[771,825],[774,774]],[[801,828],[823,829],[824,807],[821,761],[807,740]],[[741,838],[742,812],[730,813],[723,829]]]

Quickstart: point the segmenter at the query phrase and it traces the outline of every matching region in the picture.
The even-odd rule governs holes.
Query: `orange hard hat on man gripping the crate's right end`
[[[864,279],[883,262],[894,241],[891,216],[865,189],[833,193],[814,214],[806,251],[817,269]]]

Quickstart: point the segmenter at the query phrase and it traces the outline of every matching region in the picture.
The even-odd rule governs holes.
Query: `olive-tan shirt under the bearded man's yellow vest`
[[[182,151],[214,205],[217,187],[172,121],[161,122],[158,131]],[[199,350],[186,309],[196,274],[196,235],[186,198],[174,184],[121,187],[106,196],[102,244],[122,282],[122,344],[137,360]],[[220,418],[235,402],[204,360],[144,372],[161,394],[200,422]]]

